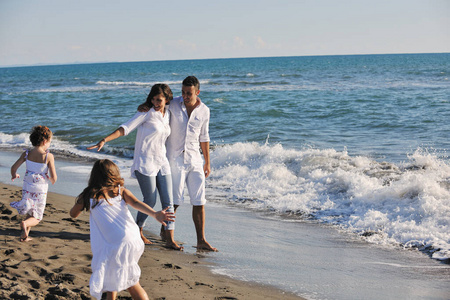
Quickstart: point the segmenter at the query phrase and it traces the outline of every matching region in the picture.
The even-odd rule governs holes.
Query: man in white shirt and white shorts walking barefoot
[[[166,142],[175,212],[184,201],[183,192],[187,185],[197,233],[197,250],[217,251],[205,239],[205,179],[211,174],[209,108],[198,97],[200,82],[196,77],[186,77],[181,91],[182,96],[174,98],[169,105],[171,134]]]

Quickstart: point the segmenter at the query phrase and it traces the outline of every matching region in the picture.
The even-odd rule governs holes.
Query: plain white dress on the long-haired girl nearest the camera
[[[144,252],[139,227],[121,195],[101,199],[90,209],[92,276],[90,293],[100,299],[102,293],[123,291],[139,282],[138,262]]]

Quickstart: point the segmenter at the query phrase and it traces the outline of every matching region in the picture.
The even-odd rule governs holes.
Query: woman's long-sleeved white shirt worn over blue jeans
[[[134,171],[147,176],[156,176],[161,170],[162,175],[170,174],[170,165],[166,156],[165,142],[170,135],[170,113],[166,109],[164,116],[152,107],[148,112],[138,112],[126,123],[120,125],[125,135],[137,128],[134,145],[131,176],[136,178]]]

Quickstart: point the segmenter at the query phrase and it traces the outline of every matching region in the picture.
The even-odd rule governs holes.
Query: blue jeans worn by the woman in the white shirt
[[[161,199],[162,209],[169,207],[168,212],[174,212],[173,209],[173,197],[172,197],[172,175],[162,175],[161,171],[156,176],[147,176],[134,171],[136,179],[138,180],[139,187],[141,188],[142,196],[144,196],[144,203],[151,208],[155,207],[156,198],[159,193]],[[144,227],[145,220],[148,215],[138,211],[136,217],[136,223],[139,227]],[[175,223],[167,222],[166,230],[174,230]]]

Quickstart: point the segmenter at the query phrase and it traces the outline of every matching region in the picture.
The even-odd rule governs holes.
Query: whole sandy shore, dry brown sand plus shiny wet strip
[[[0,151],[0,298],[91,299],[89,216],[71,219],[68,211],[92,163],[56,156],[58,181],[49,187],[44,219],[31,230],[33,240],[22,243],[20,216],[9,206],[21,197],[22,180],[9,180],[19,153]],[[122,174],[140,198],[136,182]],[[155,244],[140,260],[140,282],[150,299],[447,299],[450,293],[450,265],[418,251],[213,201],[206,210],[206,237],[219,252],[196,252],[190,205],[177,211],[175,238],[184,252],[163,247],[156,221],[145,225]]]

